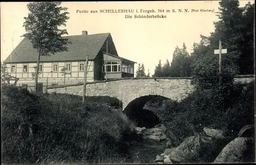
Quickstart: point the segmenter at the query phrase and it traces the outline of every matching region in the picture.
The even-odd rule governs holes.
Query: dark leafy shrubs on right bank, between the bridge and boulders
[[[180,102],[169,100],[164,111],[157,114],[176,146],[193,131],[202,132],[203,127],[224,129],[235,138],[242,127],[254,124],[254,83],[230,82],[226,88],[198,88]]]

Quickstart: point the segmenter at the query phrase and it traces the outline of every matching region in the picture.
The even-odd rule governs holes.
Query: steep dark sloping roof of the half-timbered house
[[[57,52],[48,57],[41,56],[40,62],[85,60],[87,54],[89,60],[94,60],[108,36],[111,37],[110,33],[63,37],[72,42],[68,44],[68,51]],[[37,50],[24,38],[5,60],[5,63],[10,62],[37,62]]]

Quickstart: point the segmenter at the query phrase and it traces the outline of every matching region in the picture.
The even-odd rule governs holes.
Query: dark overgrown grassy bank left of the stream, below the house
[[[87,163],[126,158],[131,123],[121,112],[102,105],[118,105],[115,98],[67,94],[34,95],[25,89],[2,89],[2,156],[5,163]],[[34,136],[19,132],[19,125],[38,123]],[[120,162],[120,161],[119,161]],[[112,162],[113,163],[113,162]]]

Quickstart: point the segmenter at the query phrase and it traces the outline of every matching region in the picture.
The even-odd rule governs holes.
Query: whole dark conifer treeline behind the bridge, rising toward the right
[[[214,54],[219,49],[219,40],[227,53],[222,56],[222,72],[233,74],[254,74],[254,8],[247,3],[239,7],[239,1],[221,1],[219,21],[215,21],[215,31],[209,36],[201,35],[201,41],[194,43],[193,51],[188,53],[185,43],[176,47],[172,62],[159,60],[153,77],[203,76],[205,72],[218,74],[219,56]],[[143,67],[142,67],[143,66]],[[139,64],[136,77],[145,74],[144,65]]]

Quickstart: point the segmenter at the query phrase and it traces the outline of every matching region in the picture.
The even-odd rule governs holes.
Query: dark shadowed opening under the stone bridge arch
[[[169,98],[160,95],[141,96],[131,101],[124,108],[126,116],[134,122],[137,127],[153,128],[161,123],[157,114],[153,111],[154,108],[148,109],[145,104],[149,101],[161,102],[162,100],[169,100]]]

